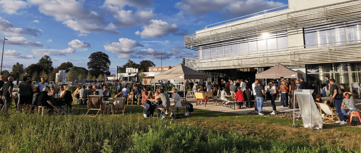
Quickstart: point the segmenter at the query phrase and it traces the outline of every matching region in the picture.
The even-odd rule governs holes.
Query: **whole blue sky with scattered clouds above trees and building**
[[[207,25],[287,5],[288,0],[0,0],[3,70],[48,55],[87,67],[93,52],[108,54],[110,73],[128,60],[173,66],[197,57],[184,36]],[[3,40],[3,39],[1,39]],[[1,45],[2,47],[2,45]]]

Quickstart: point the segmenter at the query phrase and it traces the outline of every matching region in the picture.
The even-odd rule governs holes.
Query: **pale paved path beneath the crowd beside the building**
[[[242,109],[237,109],[237,105],[236,105],[236,109],[233,109],[233,108],[231,109],[230,107],[224,107],[221,104],[219,104],[218,106],[214,106],[213,100],[210,100],[210,102],[207,103],[207,105],[205,107],[204,107],[204,104],[196,106],[196,99],[193,99],[193,96],[191,96],[191,98],[187,98],[187,100],[188,100],[188,102],[190,102],[193,105],[193,108],[195,108],[195,109],[204,109],[204,110],[218,111],[218,112],[229,112],[229,113],[236,113],[236,114],[247,114],[247,113],[255,110],[255,108],[245,108],[245,107]],[[291,109],[291,108],[282,107],[280,100],[276,100],[275,103],[276,103],[276,111],[277,112],[293,112],[293,109]],[[265,101],[263,103],[262,111],[272,111],[272,110],[273,109],[272,109],[271,101],[270,100]],[[299,109],[295,109],[295,112],[299,112]]]

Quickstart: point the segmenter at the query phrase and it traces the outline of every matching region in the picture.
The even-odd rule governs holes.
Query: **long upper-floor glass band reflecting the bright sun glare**
[[[288,50],[287,32],[205,45],[198,48],[200,59]]]

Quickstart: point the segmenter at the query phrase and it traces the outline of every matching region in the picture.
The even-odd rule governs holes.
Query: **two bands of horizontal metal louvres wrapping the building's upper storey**
[[[283,10],[283,12],[285,11]],[[240,24],[236,24],[239,21],[231,22],[226,25],[198,31],[196,34],[184,36],[184,47],[198,50],[206,45],[212,46],[226,41],[252,38],[265,33],[282,31],[287,31],[289,41],[294,41],[292,40],[292,35],[303,34],[304,28],[360,19],[361,1],[346,1],[316,8],[293,12],[288,10],[288,13],[280,13],[282,11],[278,12],[279,15],[268,18],[250,20]],[[304,38],[297,41],[304,41]],[[264,50],[262,52],[249,52],[248,54],[228,57],[192,58],[187,59],[185,65],[194,70],[211,70],[274,66],[278,63],[283,65],[304,65],[361,61],[361,43],[332,45],[335,44],[335,42],[332,42],[328,43],[330,45],[325,47],[313,48],[305,48],[304,42],[301,42],[301,44],[303,45],[289,45],[284,51]]]

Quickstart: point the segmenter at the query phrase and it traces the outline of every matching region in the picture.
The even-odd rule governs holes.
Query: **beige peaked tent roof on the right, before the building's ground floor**
[[[301,78],[302,73],[291,70],[282,64],[277,64],[276,66],[268,69],[262,73],[256,74],[257,79],[275,79],[275,78]]]

